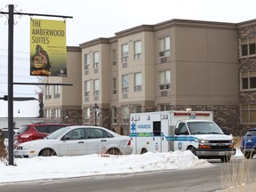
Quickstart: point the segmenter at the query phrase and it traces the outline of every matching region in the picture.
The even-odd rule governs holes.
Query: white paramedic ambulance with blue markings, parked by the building
[[[130,116],[132,153],[191,150],[199,158],[229,162],[236,154],[231,135],[213,121],[212,111],[158,111]]]

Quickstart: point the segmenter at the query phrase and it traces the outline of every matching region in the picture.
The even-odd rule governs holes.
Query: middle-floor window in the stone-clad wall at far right
[[[256,71],[241,72],[241,89],[252,91],[256,89]]]

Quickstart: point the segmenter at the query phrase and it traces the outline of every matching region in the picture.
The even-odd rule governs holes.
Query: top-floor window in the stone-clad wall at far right
[[[255,55],[256,54],[256,36],[243,38],[240,40],[241,56]]]

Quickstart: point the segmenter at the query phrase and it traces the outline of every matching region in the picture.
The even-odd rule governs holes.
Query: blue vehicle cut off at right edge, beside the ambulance
[[[240,145],[245,158],[252,158],[256,154],[256,128],[248,129]]]

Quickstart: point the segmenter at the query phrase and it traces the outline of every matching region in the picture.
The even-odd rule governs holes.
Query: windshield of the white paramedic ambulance
[[[223,134],[222,130],[214,122],[188,122],[188,129],[195,134]]]

